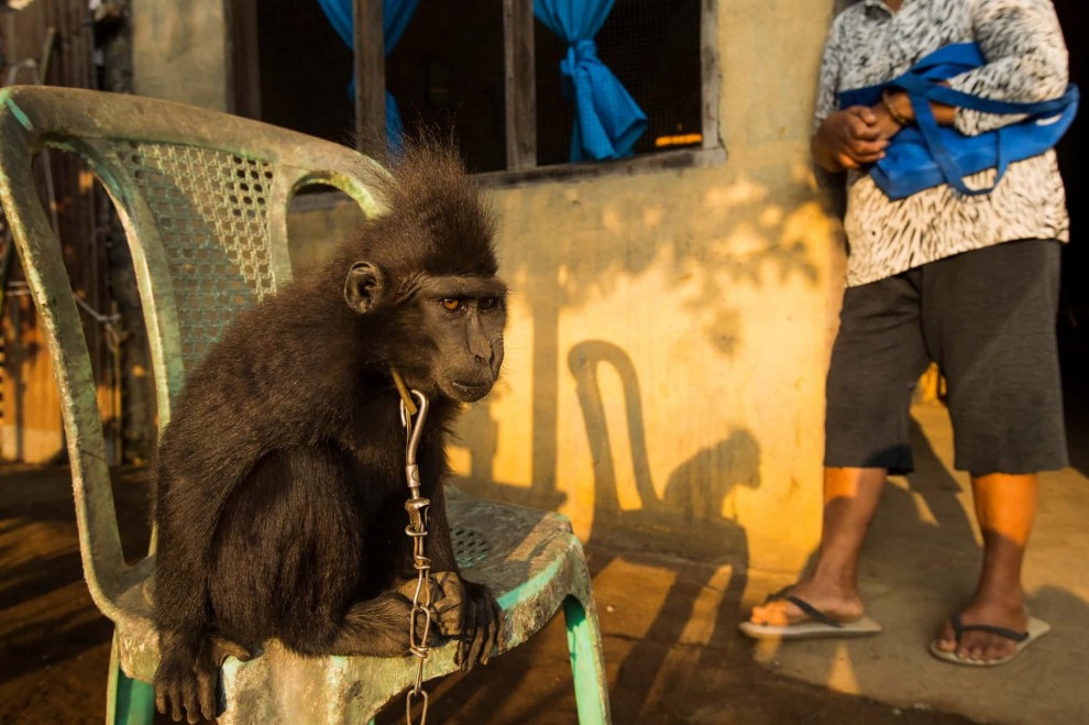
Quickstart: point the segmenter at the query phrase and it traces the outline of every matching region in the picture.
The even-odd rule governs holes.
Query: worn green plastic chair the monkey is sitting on
[[[124,226],[148,330],[160,425],[190,370],[232,316],[292,274],[288,202],[328,184],[380,213],[352,169],[374,163],[343,146],[264,123],[166,101],[68,88],[0,90],[0,202],[14,232],[63,399],[84,573],[116,625],[107,723],[146,723],[158,664],[152,623],[154,537],[124,562],[87,343],[72,286],[32,182],[33,155],[78,154]],[[526,641],[563,608],[581,723],[609,722],[597,613],[570,521],[451,491],[451,527],[465,575],[504,611],[499,650]],[[428,679],[453,672],[454,645],[432,649]],[[222,670],[221,723],[363,723],[414,680],[415,659],[302,658],[277,642]]]

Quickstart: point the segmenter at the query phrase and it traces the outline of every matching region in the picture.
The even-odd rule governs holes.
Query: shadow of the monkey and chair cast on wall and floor
[[[593,549],[595,578],[610,568],[635,576],[639,575],[640,568],[660,570],[666,567],[674,570],[674,575],[669,576],[671,584],[664,597],[653,613],[648,614],[649,626],[631,642],[615,679],[610,678],[610,689],[615,693],[649,693],[661,677],[675,674],[683,680],[690,672],[689,668],[719,667],[719,658],[727,649],[726,642],[736,637],[738,614],[735,605],[741,600],[748,583],[748,541],[745,529],[724,517],[723,510],[738,486],[760,486],[760,446],[749,431],[730,429],[725,439],[701,449],[678,465],[659,495],[649,473],[644,406],[639,380],[630,358],[618,345],[590,340],[572,348],[568,364],[575,378],[594,461],[594,516],[588,543],[606,543]],[[622,498],[627,501],[631,497],[622,496],[619,491],[623,483],[617,480],[606,407],[598,382],[603,365],[619,375],[624,391],[635,471],[634,499],[637,503],[634,507],[622,503]],[[481,407],[477,413],[470,414],[476,417],[469,422],[481,426],[474,429],[477,432],[485,431],[480,443],[481,448],[486,449],[496,425],[486,413],[480,410],[486,408]],[[473,455],[472,475],[488,473],[486,466],[477,468],[480,460],[481,457]],[[469,484],[469,487],[477,486]],[[504,486],[502,493],[508,495],[513,491],[518,490]],[[671,553],[683,558],[670,558]],[[692,560],[701,563],[691,563]],[[707,563],[714,565],[708,567]],[[688,575],[680,575],[682,571]],[[711,598],[721,603],[711,612],[706,611],[707,592],[713,592]],[[638,608],[631,603],[629,606]],[[697,627],[704,634],[693,635],[693,623],[705,623]],[[671,659],[675,659],[675,652],[671,652],[670,648],[684,641],[700,644],[703,649],[691,650],[690,657],[685,658],[686,663],[679,666]],[[525,672],[519,670],[508,677],[513,689]],[[683,682],[678,682],[678,686],[682,685]],[[464,691],[458,696],[472,699]],[[614,701],[613,717],[616,722],[637,722],[646,716],[642,696],[620,696]]]

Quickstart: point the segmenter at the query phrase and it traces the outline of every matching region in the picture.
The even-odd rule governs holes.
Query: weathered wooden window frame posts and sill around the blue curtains
[[[359,139],[381,138],[386,125],[386,58],[383,0],[352,0],[355,37],[355,130]],[[507,167],[476,174],[485,186],[582,179],[713,166],[726,161],[718,123],[718,0],[700,0],[700,66],[703,143],[700,147],[639,154],[608,162],[537,165],[537,78],[534,0],[503,0]]]

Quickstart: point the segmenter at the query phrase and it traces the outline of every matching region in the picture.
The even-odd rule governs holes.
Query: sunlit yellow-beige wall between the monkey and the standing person
[[[583,537],[791,570],[820,525],[842,289],[807,161],[834,1],[719,6],[726,163],[494,191],[507,362],[451,458],[464,487],[557,507]],[[344,224],[311,208],[294,242]]]

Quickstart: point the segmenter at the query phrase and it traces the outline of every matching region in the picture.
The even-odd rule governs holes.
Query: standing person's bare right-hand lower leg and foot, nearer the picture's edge
[[[993,473],[972,476],[976,516],[983,534],[983,568],[971,602],[960,613],[965,624],[988,624],[1024,631],[1028,615],[1021,587],[1021,564],[1036,516],[1035,474]],[[992,660],[1013,651],[1016,642],[986,631],[966,631],[957,646],[947,623],[938,647],[960,657]]]

